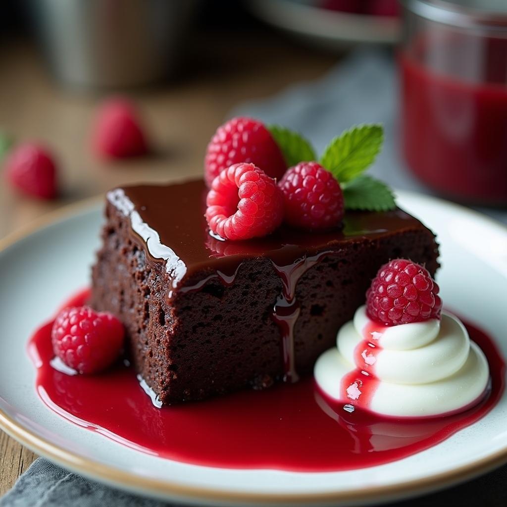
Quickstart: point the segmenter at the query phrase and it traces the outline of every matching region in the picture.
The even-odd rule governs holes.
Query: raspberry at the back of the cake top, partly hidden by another
[[[281,178],[287,168],[269,130],[251,118],[233,118],[216,130],[204,158],[207,186],[223,169],[240,162],[255,164],[272,178]]]

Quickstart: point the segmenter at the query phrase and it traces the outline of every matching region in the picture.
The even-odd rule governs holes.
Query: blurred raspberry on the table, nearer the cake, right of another
[[[92,133],[94,150],[105,158],[144,155],[148,144],[135,106],[125,99],[111,99],[98,111]]]

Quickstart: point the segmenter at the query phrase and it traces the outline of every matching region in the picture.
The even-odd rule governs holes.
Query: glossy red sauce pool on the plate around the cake
[[[74,297],[83,304],[88,292]],[[505,364],[492,339],[467,324],[485,352],[491,391],[460,414],[396,419],[330,402],[313,379],[265,391],[158,409],[134,371],[118,365],[102,375],[69,376],[52,368],[49,322],[30,339],[37,391],[62,417],[124,445],[164,458],[226,468],[330,472],[379,465],[434,446],[473,424],[496,404]]]

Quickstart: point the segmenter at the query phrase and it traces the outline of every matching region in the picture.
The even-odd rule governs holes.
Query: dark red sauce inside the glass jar
[[[422,50],[413,50],[415,56],[403,53],[401,132],[408,165],[430,187],[469,202],[505,205],[507,42],[495,45],[495,41],[489,41],[489,61],[477,70],[482,73],[478,80],[484,82],[466,76],[473,69],[452,68],[463,60],[465,51],[464,45],[453,41],[444,40],[441,47],[426,50],[432,52],[433,60],[443,62],[441,69],[421,63],[430,59],[418,54]],[[452,51],[457,52],[455,58]],[[451,72],[465,75],[453,77]]]

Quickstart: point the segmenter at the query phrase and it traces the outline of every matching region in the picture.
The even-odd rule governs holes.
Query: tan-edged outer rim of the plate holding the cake
[[[475,219],[486,221],[492,225],[500,226],[507,233],[507,225],[487,216],[474,209],[467,208],[460,204],[447,201],[434,196],[418,192],[396,191],[396,195],[404,198],[415,197],[429,203],[452,207],[456,211],[466,215],[473,215]],[[18,241],[30,236],[32,233],[44,229],[53,224],[63,222],[75,215],[91,210],[100,203],[102,195],[81,200],[77,203],[68,204],[54,211],[46,213],[31,221],[25,226],[11,232],[4,238],[0,238],[0,252],[14,245]],[[308,503],[332,503],[332,502],[368,502],[380,500],[380,498],[402,498],[411,494],[424,491],[435,491],[451,486],[468,479],[478,477],[507,462],[507,445],[493,454],[474,460],[466,465],[454,467],[447,472],[426,475],[419,479],[405,481],[391,485],[371,486],[368,488],[355,488],[353,490],[335,490],[324,492],[302,492],[302,493],[267,493],[267,492],[242,492],[237,490],[224,490],[216,487],[203,487],[182,485],[170,480],[154,479],[144,477],[121,470],[112,465],[106,465],[90,458],[85,458],[77,453],[68,451],[58,444],[52,443],[44,437],[40,437],[30,429],[23,427],[14,418],[9,416],[0,408],[0,429],[4,430],[10,437],[35,453],[47,457],[53,462],[59,463],[77,473],[83,474],[100,482],[113,484],[130,491],[142,491],[159,498],[177,498],[180,501],[201,501],[228,502],[228,503],[263,503],[263,504],[308,504]]]

